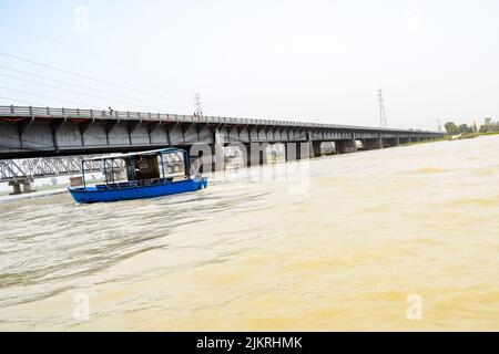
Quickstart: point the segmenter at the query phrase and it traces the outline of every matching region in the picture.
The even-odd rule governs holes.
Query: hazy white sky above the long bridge
[[[206,115],[376,126],[381,87],[390,127],[497,119],[498,17],[497,0],[0,0],[0,104],[191,114],[200,92]]]

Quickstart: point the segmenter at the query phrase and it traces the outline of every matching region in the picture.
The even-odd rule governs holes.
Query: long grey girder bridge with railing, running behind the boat
[[[0,106],[0,159],[190,148],[200,143],[212,147],[213,156],[217,146],[234,143],[247,152],[256,144],[299,144],[307,148],[292,155],[305,158],[320,155],[323,142],[334,142],[336,152],[343,154],[356,150],[356,140],[371,149],[440,136],[427,131],[292,121]]]

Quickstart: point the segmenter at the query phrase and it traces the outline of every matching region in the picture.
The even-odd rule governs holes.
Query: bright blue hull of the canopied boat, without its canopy
[[[134,186],[126,188],[70,187],[68,190],[77,202],[119,201],[155,198],[186,191],[196,191],[207,187],[207,179],[185,179],[159,185]]]

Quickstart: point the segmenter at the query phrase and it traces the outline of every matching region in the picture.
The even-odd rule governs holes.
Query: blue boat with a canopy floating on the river
[[[198,170],[191,178],[189,155],[177,148],[92,157],[82,159],[81,165],[83,186],[68,190],[82,204],[154,198],[207,187],[207,178]],[[95,170],[95,166],[102,167],[105,183],[86,186],[85,169]]]

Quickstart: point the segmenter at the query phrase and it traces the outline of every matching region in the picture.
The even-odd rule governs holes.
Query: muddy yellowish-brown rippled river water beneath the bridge
[[[0,330],[498,331],[498,152],[488,136],[149,200],[2,201]]]

